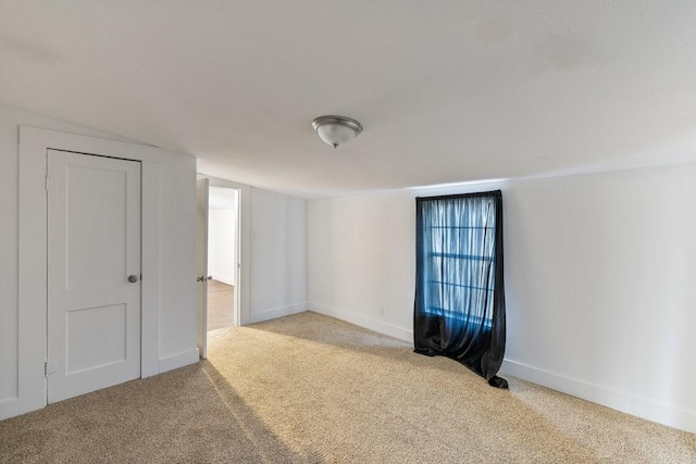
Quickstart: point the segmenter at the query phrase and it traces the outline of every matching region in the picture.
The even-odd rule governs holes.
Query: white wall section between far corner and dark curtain
[[[413,198],[401,191],[309,201],[310,310],[412,340]]]

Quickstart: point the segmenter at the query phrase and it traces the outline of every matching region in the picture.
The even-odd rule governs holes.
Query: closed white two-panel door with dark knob
[[[140,163],[47,156],[52,403],[140,377]]]

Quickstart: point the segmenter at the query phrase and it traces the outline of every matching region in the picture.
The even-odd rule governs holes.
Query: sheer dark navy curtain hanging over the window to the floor
[[[415,352],[459,361],[496,376],[505,354],[500,190],[418,198]]]

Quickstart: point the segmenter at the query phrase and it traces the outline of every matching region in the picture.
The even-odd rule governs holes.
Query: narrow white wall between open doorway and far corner
[[[307,200],[251,188],[249,322],[307,310]]]

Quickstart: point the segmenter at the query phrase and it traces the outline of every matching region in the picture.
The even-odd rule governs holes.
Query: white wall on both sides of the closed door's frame
[[[18,126],[123,140],[0,105],[0,416],[18,396]],[[178,366],[196,348],[195,159],[163,152],[160,165],[160,359]],[[192,351],[191,351],[192,350]]]

